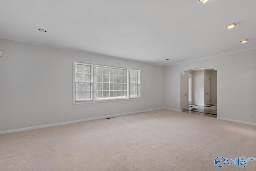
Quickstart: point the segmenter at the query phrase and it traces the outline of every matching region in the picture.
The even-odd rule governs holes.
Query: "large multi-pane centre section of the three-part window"
[[[128,98],[128,69],[95,66],[96,100]]]

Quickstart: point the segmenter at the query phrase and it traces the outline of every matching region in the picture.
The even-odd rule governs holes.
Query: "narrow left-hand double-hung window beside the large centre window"
[[[75,101],[92,100],[92,66],[75,63]]]

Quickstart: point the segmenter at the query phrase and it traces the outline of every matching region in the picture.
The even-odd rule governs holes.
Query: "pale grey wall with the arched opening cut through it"
[[[180,110],[180,73],[194,68],[218,69],[218,117],[256,123],[256,49],[165,67],[165,107]]]

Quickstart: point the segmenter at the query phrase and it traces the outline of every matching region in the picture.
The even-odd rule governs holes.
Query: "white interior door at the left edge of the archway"
[[[187,73],[182,72],[180,74],[180,104],[181,110],[188,108],[188,96],[187,96]]]

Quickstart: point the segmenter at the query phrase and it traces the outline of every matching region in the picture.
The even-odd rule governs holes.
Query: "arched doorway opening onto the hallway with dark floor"
[[[196,68],[180,74],[182,111],[217,117],[217,70]]]

